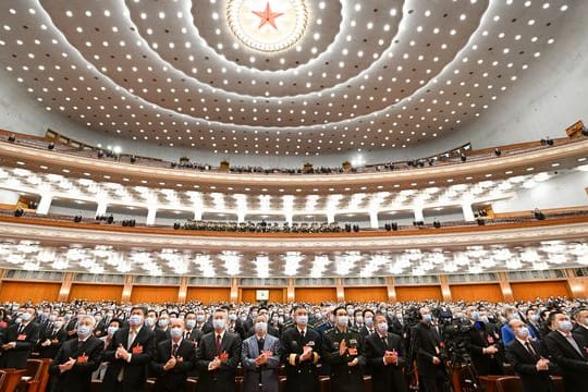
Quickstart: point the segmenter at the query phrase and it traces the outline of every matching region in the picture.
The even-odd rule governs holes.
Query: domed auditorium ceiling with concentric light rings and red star
[[[47,111],[219,154],[401,149],[479,121],[579,0],[10,0],[0,66]]]

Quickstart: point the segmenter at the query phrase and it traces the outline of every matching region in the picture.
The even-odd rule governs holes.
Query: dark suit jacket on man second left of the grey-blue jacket
[[[151,363],[151,371],[157,381],[154,391],[183,391],[188,376],[196,364],[196,351],[194,343],[182,339],[175,354],[176,363],[173,369],[164,370],[163,366],[172,355],[172,340],[166,340],[157,345],[155,359]]]

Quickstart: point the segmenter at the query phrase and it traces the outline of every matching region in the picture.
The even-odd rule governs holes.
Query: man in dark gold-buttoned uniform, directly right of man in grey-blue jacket
[[[321,335],[308,328],[308,313],[303,306],[294,307],[296,324],[285,330],[281,339],[281,359],[285,363],[286,392],[318,392]]]

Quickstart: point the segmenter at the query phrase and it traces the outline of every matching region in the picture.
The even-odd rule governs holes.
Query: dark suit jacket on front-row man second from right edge
[[[555,372],[555,364],[550,363],[548,371],[537,370],[539,358],[547,358],[548,355],[541,344],[530,343],[536,354],[529,353],[518,340],[513,340],[505,347],[506,359],[520,378],[525,392],[553,392],[555,389],[549,375]]]

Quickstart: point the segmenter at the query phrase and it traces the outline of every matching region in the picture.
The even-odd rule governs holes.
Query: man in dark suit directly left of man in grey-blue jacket
[[[234,391],[236,368],[241,360],[241,339],[226,331],[226,310],[217,309],[212,315],[215,330],[200,340],[196,351],[199,370],[198,391]]]

